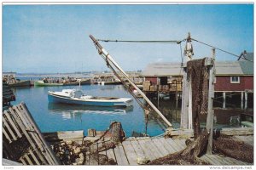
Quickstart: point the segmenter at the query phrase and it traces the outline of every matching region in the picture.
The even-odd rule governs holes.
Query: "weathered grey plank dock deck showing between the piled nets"
[[[253,136],[247,138],[253,138]],[[185,148],[185,139],[165,139],[163,137],[128,138],[122,144],[118,144],[114,149],[103,151],[101,154],[107,155],[108,158],[113,158],[118,165],[126,166],[138,165],[137,157],[146,156],[151,161]],[[200,159],[212,165],[250,165],[247,162],[219,155],[206,154],[201,156]]]

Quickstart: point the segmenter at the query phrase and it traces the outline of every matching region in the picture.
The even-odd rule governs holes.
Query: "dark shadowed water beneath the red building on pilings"
[[[154,105],[158,105],[157,99],[152,99]],[[223,127],[241,127],[242,121],[253,122],[253,99],[248,100],[247,109],[241,109],[240,96],[233,95],[226,103],[226,108],[222,108],[222,99],[215,99],[213,103],[214,110],[214,128]],[[174,128],[180,127],[181,119],[181,99],[176,102],[175,97],[160,99],[158,109],[162,112],[166,119],[172,123]],[[251,118],[245,120],[244,115],[249,115]],[[167,127],[156,113],[148,116],[148,122],[150,120],[156,120],[161,124],[161,127]],[[207,115],[200,116],[201,128],[206,128]]]

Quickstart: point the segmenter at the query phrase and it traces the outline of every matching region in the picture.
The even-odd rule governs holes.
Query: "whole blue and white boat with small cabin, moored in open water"
[[[63,89],[61,92],[48,92],[50,103],[65,103],[74,105],[96,105],[96,106],[113,106],[128,107],[132,105],[132,99],[113,98],[113,97],[93,97],[85,95],[82,90]]]

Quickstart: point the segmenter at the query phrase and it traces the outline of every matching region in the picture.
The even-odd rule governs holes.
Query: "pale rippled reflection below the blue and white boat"
[[[133,111],[133,106],[116,108],[49,103],[48,110],[49,113],[61,114],[63,119],[73,119],[75,117],[80,117],[82,114],[100,114],[108,116],[126,115],[126,113]]]

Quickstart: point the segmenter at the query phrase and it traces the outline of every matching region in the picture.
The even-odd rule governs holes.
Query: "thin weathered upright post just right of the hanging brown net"
[[[215,48],[212,48],[212,60],[215,59]],[[207,114],[207,132],[209,134],[208,145],[207,145],[207,154],[212,155],[212,136],[213,136],[213,117],[214,111],[212,110],[213,99],[214,99],[214,75],[215,66],[214,63],[210,67],[209,71],[209,92],[208,92],[208,114]]]

